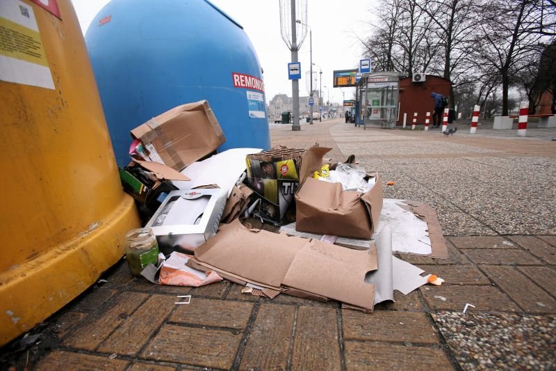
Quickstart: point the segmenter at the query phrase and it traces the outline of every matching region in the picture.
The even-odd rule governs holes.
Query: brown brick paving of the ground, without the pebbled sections
[[[272,129],[272,143],[306,148],[318,142],[340,160],[345,154],[329,131],[338,122],[303,125],[302,132],[284,125]],[[475,144],[502,145],[489,138]],[[457,370],[473,363],[449,345],[435,314],[461,312],[473,303],[477,312],[554,318],[556,236],[446,240],[448,260],[402,255],[446,285],[425,285],[407,296],[395,292],[395,303],[379,304],[372,314],[335,301],[252,297],[229,282],[151,285],[131,277],[122,260],[104,274],[106,282],[35,329],[42,334],[39,344],[22,351],[13,342],[3,349],[3,360],[36,370]],[[190,305],[175,305],[179,294],[191,294]]]

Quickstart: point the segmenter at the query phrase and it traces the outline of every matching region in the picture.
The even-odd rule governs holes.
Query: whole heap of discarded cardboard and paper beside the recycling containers
[[[131,137],[133,161],[120,175],[163,253],[158,267],[143,272],[152,282],[225,278],[251,294],[334,299],[370,311],[392,300],[393,290],[427,282],[422,270],[393,257],[393,241],[418,240],[434,246],[427,255],[447,257],[434,210],[383,200],[377,173],[363,174],[363,191],[319,180],[337,166],[324,158],[330,148],[215,153],[225,139],[206,101],[171,109]],[[412,229],[396,235],[399,220]]]

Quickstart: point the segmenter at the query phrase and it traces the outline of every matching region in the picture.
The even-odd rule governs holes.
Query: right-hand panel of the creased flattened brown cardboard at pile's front
[[[365,282],[366,274],[377,269],[373,251],[338,249],[311,239],[295,255],[284,285],[373,309],[375,285]]]

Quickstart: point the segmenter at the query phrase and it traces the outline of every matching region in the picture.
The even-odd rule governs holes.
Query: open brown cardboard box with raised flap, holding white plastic
[[[343,191],[341,184],[311,177],[322,166],[322,156],[332,148],[313,147],[302,156],[300,187],[295,194],[296,230],[369,239],[378,225],[382,210],[382,184],[378,174],[376,184],[366,193]]]

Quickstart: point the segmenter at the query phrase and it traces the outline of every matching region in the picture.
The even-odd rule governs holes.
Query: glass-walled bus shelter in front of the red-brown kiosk
[[[373,72],[359,80],[359,125],[395,127],[398,120],[400,73]]]

